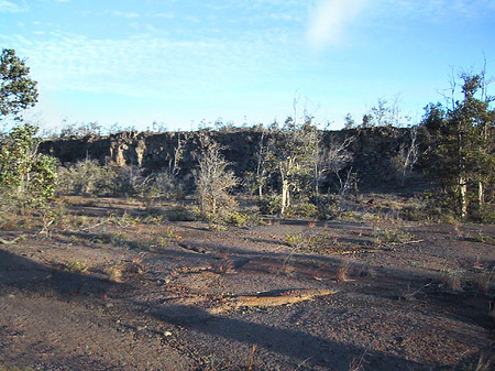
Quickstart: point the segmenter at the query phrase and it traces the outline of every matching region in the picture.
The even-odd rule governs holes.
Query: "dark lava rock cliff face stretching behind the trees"
[[[224,148],[223,154],[232,164],[238,176],[255,171],[256,150],[262,132],[256,129],[233,131],[207,131]],[[183,157],[180,176],[190,178],[197,167],[197,152],[201,132],[146,133],[124,131],[109,137],[88,135],[75,139],[46,140],[40,151],[57,157],[63,165],[69,165],[85,159],[94,159],[106,164],[135,165],[146,173],[167,170],[173,162],[178,141],[182,141]],[[323,131],[321,146],[330,146],[345,138],[354,137],[348,148],[353,160],[348,165],[358,174],[360,189],[394,190],[399,186],[398,174],[393,165],[394,157],[402,145],[410,143],[410,129],[369,128],[341,131]],[[410,185],[424,184],[420,174],[413,177]]]

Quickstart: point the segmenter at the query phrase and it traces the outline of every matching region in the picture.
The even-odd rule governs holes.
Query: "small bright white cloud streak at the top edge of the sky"
[[[310,11],[307,37],[314,50],[339,44],[367,0],[318,0]]]

